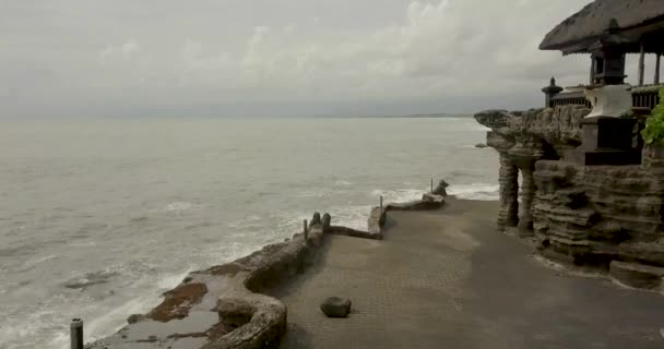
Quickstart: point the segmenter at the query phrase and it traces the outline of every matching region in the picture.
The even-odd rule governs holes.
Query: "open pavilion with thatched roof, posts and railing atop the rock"
[[[607,33],[609,32],[609,33]],[[638,84],[631,89],[633,106],[653,108],[661,83],[661,59],[664,55],[664,4],[660,0],[594,1],[557,25],[546,35],[540,48],[560,50],[562,55],[591,55],[590,85],[621,84],[625,55],[639,55]],[[653,80],[645,84],[645,56],[654,55]],[[553,89],[547,107],[588,105],[578,89]]]

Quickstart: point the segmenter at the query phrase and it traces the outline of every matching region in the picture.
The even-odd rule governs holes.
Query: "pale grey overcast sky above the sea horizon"
[[[0,0],[0,117],[538,107],[552,75],[588,80],[537,50],[588,2]]]

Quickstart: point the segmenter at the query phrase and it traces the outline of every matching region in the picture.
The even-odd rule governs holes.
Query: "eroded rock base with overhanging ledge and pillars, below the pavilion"
[[[582,166],[564,154],[582,143],[583,106],[475,116],[500,156],[501,228],[535,236],[543,254],[608,268],[664,266],[664,176],[651,166]],[[522,182],[519,188],[518,176]],[[521,202],[518,195],[521,195]]]

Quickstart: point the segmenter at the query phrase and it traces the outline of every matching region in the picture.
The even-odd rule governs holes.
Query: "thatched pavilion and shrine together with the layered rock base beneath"
[[[544,109],[475,116],[491,129],[487,144],[500,156],[499,227],[535,237],[546,256],[612,274],[627,265],[652,281],[633,286],[660,287],[664,151],[644,146],[640,131],[661,86],[626,84],[625,61],[640,55],[643,85],[643,57],[656,55],[659,83],[664,3],[596,0],[556,26],[540,48],[590,55],[591,77],[567,91],[552,79],[543,88]]]

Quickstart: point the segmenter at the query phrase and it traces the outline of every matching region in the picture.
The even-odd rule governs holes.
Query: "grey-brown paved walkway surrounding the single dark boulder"
[[[384,241],[329,237],[317,265],[276,290],[282,348],[664,348],[664,297],[568,276],[495,228],[498,205],[390,213]],[[354,312],[330,320],[330,296]]]

